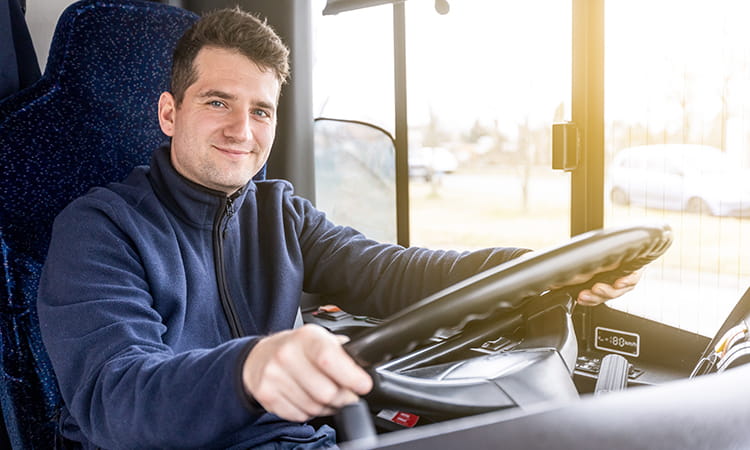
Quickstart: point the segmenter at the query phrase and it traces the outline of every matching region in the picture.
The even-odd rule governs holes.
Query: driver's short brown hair
[[[280,84],[289,77],[289,49],[265,20],[239,7],[210,12],[182,35],[172,55],[171,90],[179,105],[198,74],[194,61],[203,47],[236,50],[262,70],[271,70]]]

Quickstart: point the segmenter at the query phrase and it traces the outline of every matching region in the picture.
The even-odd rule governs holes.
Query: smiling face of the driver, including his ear
[[[172,138],[171,160],[185,178],[227,195],[268,160],[281,84],[239,52],[204,47],[194,61],[196,81],[181,104],[159,99],[159,124]]]

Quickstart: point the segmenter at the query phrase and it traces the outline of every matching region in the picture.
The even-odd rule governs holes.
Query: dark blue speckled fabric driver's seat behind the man
[[[61,397],[35,306],[52,221],[164,142],[157,101],[174,44],[196,19],[154,2],[76,2],[42,78],[0,102],[0,404],[14,448],[56,443]]]

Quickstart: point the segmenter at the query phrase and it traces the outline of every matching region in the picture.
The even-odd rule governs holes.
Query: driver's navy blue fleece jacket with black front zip
[[[385,317],[523,251],[430,251],[336,226],[280,180],[237,194],[154,153],[56,219],[39,287],[63,432],[104,448],[250,447],[312,428],[244,394],[244,357],[293,326],[301,292]],[[254,406],[255,405],[255,406]]]

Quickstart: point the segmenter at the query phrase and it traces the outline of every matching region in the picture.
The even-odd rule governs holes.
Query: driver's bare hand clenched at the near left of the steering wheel
[[[330,415],[372,389],[341,337],[306,325],[259,341],[243,365],[243,384],[267,411],[292,421]]]

